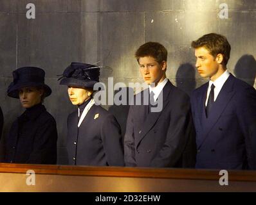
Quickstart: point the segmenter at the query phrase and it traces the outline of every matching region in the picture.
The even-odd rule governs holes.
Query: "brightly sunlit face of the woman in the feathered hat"
[[[82,104],[89,99],[91,92],[85,88],[78,88],[75,86],[68,86],[69,99],[74,105]]]

